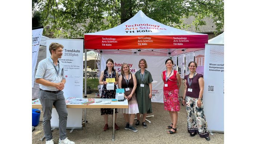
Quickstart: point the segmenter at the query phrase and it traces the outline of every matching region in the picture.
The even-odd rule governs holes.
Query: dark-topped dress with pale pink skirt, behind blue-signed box
[[[128,87],[130,88],[129,91],[125,90],[125,95],[128,96],[131,94],[131,91],[133,90],[133,75],[130,74],[130,79],[129,79],[129,83],[128,83]],[[127,88],[127,83],[125,78],[122,76],[122,89],[126,89]],[[137,114],[139,113],[139,109],[138,109],[138,103],[137,103],[137,99],[136,99],[136,94],[134,92],[133,96],[131,97],[131,99],[128,101],[128,108],[120,108],[119,111],[121,113],[125,113],[125,114]]]

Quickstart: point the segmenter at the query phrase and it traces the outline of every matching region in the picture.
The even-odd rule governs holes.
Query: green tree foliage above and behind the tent
[[[34,1],[34,6],[33,6]],[[32,11],[40,12],[44,34],[58,37],[61,29],[70,37],[113,28],[142,10],[148,17],[168,26],[183,26],[182,18],[194,16],[193,25],[204,25],[211,17],[216,32],[224,27],[224,0],[32,0]],[[82,25],[81,25],[82,23]],[[82,26],[82,29],[80,29]]]

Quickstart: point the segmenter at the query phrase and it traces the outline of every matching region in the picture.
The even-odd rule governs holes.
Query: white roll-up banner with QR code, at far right
[[[224,45],[206,44],[203,102],[208,131],[224,133]]]

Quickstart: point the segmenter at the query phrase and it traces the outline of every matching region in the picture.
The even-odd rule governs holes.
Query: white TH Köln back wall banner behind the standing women
[[[165,61],[169,57],[159,56],[141,56],[141,55],[114,55],[114,54],[102,54],[101,55],[101,70],[105,70],[107,59],[113,59],[114,69],[121,74],[121,66],[123,63],[127,63],[130,67],[131,73],[135,74],[139,69],[139,60],[144,58],[147,62],[147,69],[153,78],[152,82],[152,102],[163,103],[163,80],[161,77],[162,71],[166,70]],[[118,86],[117,86],[118,88]],[[102,89],[102,85],[101,85]]]

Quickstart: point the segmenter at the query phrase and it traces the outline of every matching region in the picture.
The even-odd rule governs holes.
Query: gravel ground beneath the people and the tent
[[[95,93],[87,94],[88,98],[94,98]],[[187,132],[186,122],[186,107],[180,103],[180,111],[178,112],[177,132],[174,134],[168,134],[166,126],[170,124],[170,115],[168,111],[163,109],[163,103],[152,102],[153,113],[148,115],[154,115],[154,117],[147,118],[151,123],[146,121],[147,128],[143,128],[139,125],[138,132],[125,130],[125,119],[122,114],[117,114],[117,125],[119,130],[115,131],[115,141],[112,141],[113,132],[113,119],[109,116],[109,129],[103,131],[104,120],[100,114],[99,108],[87,108],[86,119],[88,123],[81,130],[67,129],[68,139],[74,141],[76,144],[224,144],[224,133],[212,133],[210,135],[211,140],[206,141],[204,138],[200,138],[199,135],[190,137]],[[39,109],[41,110],[41,109]],[[207,117],[207,116],[206,116]],[[84,110],[82,112],[82,118],[84,118]],[[32,144],[45,144],[45,139],[40,141],[44,135],[42,129],[42,110],[40,115],[40,123],[32,131]],[[82,122],[81,122],[82,123]],[[142,124],[142,122],[140,123]],[[134,120],[135,126],[135,120]],[[54,129],[52,131],[54,144],[58,144],[59,131]]]

